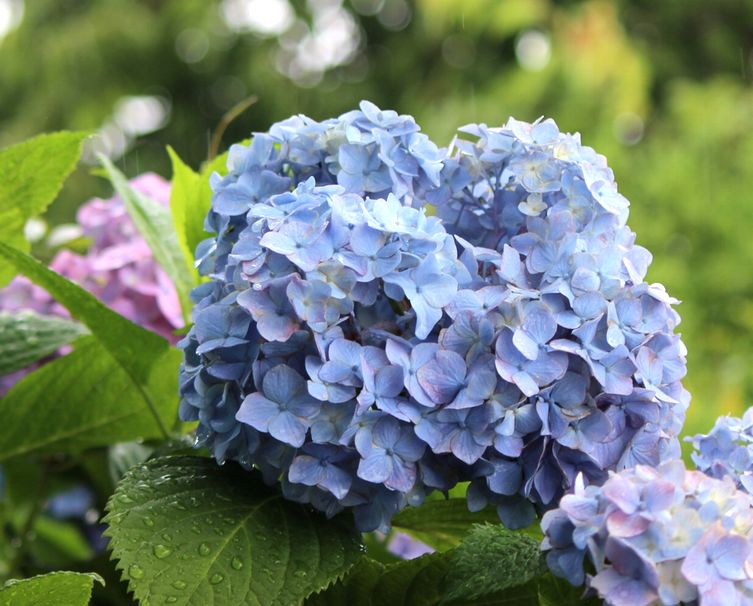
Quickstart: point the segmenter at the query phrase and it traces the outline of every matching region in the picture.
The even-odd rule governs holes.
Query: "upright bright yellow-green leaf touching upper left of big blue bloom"
[[[204,231],[204,217],[212,203],[212,190],[207,175],[195,173],[172,147],[167,153],[173,164],[170,213],[183,255],[193,267],[196,245],[210,236]]]

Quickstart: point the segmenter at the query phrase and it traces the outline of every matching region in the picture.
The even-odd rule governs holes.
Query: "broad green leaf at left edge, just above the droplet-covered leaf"
[[[0,461],[27,452],[77,452],[162,437],[175,416],[180,353],[166,350],[138,383],[91,337],[24,377],[0,400]],[[149,394],[149,396],[146,396]],[[153,412],[144,398],[153,399]]]

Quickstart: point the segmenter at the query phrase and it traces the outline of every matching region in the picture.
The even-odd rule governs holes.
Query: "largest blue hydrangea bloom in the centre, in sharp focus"
[[[180,343],[217,460],[384,530],[467,480],[525,526],[578,472],[678,452],[679,319],[604,159],[551,121],[465,132],[363,102],[231,148]]]

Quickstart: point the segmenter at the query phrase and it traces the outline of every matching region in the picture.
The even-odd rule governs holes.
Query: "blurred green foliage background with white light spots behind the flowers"
[[[197,167],[293,113],[368,98],[456,126],[556,119],[605,154],[689,349],[686,433],[753,404],[753,2],[0,0],[0,146],[98,133],[129,175]],[[82,166],[45,217],[108,186]]]

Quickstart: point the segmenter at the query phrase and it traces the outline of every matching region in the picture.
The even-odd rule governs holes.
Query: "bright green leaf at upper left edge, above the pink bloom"
[[[26,221],[43,212],[76,168],[86,133],[51,133],[0,150],[0,242],[24,251]],[[0,286],[13,277],[0,264]]]

